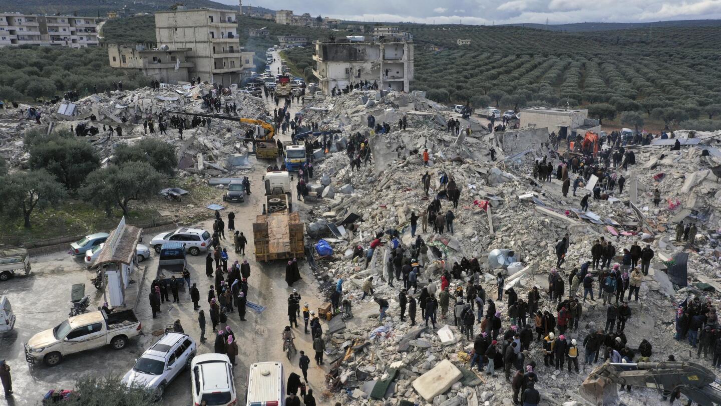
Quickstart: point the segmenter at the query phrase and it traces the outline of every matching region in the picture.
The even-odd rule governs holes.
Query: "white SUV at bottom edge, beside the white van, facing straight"
[[[209,353],[193,358],[190,366],[193,404],[200,405],[205,400],[208,406],[234,406],[237,398],[232,368],[225,354]]]

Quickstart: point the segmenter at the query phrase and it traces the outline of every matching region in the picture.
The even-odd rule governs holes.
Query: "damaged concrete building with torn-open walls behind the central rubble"
[[[365,37],[338,38],[315,43],[313,73],[320,89],[329,94],[333,87],[353,82],[377,82],[381,89],[408,92],[413,80],[413,43],[407,40],[366,40]]]

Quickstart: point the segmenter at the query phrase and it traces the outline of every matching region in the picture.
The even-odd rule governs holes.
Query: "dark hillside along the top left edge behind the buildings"
[[[76,14],[88,17],[104,17],[107,12],[127,7],[132,14],[167,10],[177,1],[185,3],[187,8],[210,7],[213,9],[231,9],[228,4],[211,0],[3,0],[0,12],[21,12],[27,14]],[[237,7],[236,7],[237,9]]]

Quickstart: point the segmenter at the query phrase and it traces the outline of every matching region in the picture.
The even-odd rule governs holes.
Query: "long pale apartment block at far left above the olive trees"
[[[0,14],[0,46],[97,46],[97,18]]]

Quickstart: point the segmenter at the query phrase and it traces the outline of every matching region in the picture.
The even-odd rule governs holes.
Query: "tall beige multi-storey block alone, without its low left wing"
[[[155,13],[158,48],[190,48],[192,77],[229,86],[241,81],[243,69],[236,11],[182,9]]]

